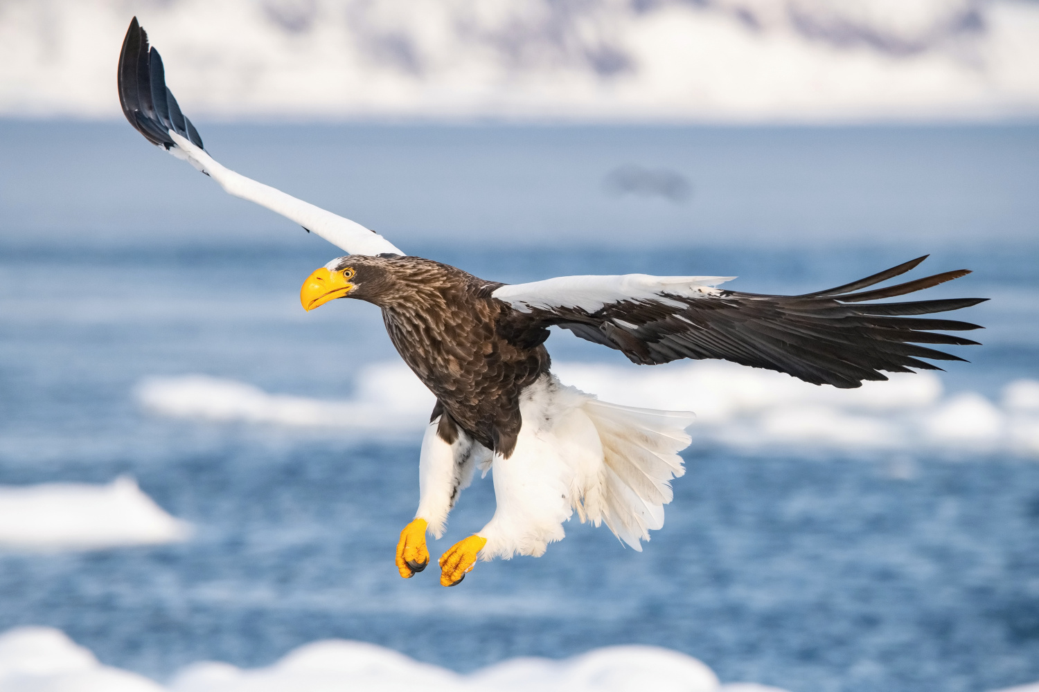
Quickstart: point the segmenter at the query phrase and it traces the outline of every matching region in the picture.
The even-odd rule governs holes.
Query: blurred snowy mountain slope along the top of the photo
[[[196,116],[1039,113],[1022,0],[6,0],[0,114],[116,117],[135,13]]]

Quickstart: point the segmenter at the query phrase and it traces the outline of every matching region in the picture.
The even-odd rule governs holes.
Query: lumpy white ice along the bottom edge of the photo
[[[59,630],[27,627],[0,635],[3,692],[783,692],[752,684],[721,685],[705,665],[655,646],[609,646],[563,661],[512,659],[468,675],[419,663],[359,641],[301,646],[267,668],[227,663],[188,666],[168,687],[101,665]]]

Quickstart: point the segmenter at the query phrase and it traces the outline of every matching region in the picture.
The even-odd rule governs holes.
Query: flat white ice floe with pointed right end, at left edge
[[[186,522],[170,517],[125,476],[106,486],[0,487],[2,548],[88,550],[142,546],[184,541],[190,532]]]

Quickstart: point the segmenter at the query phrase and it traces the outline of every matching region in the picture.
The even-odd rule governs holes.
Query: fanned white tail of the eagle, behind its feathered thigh
[[[689,446],[686,427],[694,414],[685,411],[634,409],[588,398],[582,406],[598,432],[603,465],[597,477],[585,479],[575,509],[582,521],[605,523],[635,550],[649,530],[664,525],[664,505],[671,501],[671,478],[686,470],[678,452]]]

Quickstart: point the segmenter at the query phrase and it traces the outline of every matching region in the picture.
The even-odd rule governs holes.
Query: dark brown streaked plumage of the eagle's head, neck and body
[[[549,371],[543,329],[510,327],[514,312],[490,293],[500,283],[422,257],[343,257],[353,268],[350,298],[382,310],[397,353],[436,395],[442,437],[457,425],[508,455],[520,433],[520,393]]]

